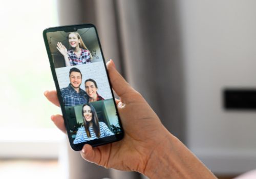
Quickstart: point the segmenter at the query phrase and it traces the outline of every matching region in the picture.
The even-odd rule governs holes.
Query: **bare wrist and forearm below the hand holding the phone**
[[[143,172],[149,178],[217,179],[197,157],[168,132],[150,155]]]

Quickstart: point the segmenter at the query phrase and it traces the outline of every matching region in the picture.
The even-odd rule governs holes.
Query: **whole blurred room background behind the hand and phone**
[[[60,109],[43,95],[55,86],[42,31],[81,23],[96,25],[105,60],[115,61],[166,128],[219,178],[255,169],[255,106],[236,106],[255,101],[255,6],[252,0],[3,1],[0,178],[145,178],[81,160],[50,120]]]

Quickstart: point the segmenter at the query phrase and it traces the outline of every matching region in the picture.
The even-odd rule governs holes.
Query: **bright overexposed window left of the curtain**
[[[0,155],[57,156],[63,135],[50,116],[60,109],[43,95],[55,86],[42,38],[45,28],[58,26],[56,0],[5,1],[0,14]]]

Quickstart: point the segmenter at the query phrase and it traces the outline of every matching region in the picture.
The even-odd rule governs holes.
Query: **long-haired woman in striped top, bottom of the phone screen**
[[[99,121],[96,110],[90,103],[82,106],[82,117],[84,127],[78,128],[74,144],[114,135],[104,122]]]

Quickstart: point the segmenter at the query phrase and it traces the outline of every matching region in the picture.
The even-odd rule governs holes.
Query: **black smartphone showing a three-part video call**
[[[96,27],[60,26],[43,32],[71,147],[81,150],[123,138]]]

